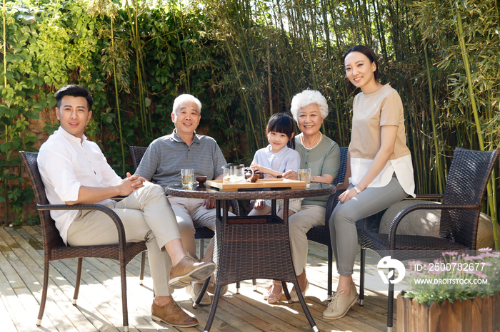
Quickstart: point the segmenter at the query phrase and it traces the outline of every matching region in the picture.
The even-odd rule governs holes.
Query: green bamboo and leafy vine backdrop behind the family
[[[468,78],[486,148],[499,145],[499,13],[496,0],[6,1],[0,204],[16,211],[13,222],[35,222],[23,214],[33,194],[17,151],[33,150],[29,119],[53,109],[68,83],[94,96],[86,134],[120,175],[133,169],[129,145],[171,133],[180,93],[201,100],[201,131],[228,161],[248,163],[266,145],[269,115],[288,111],[306,88],[329,100],[326,135],[349,145],[358,91],[341,57],[358,43],[376,50],[381,82],[404,101],[416,191],[442,192],[454,147],[479,150]],[[46,124],[49,133],[56,127]]]

